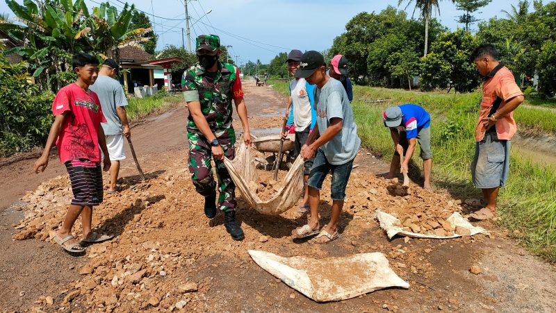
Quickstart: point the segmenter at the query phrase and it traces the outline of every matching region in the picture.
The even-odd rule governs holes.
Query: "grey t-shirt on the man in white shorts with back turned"
[[[127,99],[120,82],[110,76],[99,75],[89,89],[99,96],[102,114],[106,117],[106,123],[101,123],[104,135],[121,134],[122,121],[117,116],[116,107],[126,106]]]

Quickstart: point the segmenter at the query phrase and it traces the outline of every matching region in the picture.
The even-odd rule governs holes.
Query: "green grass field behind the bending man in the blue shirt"
[[[422,105],[432,115],[432,183],[456,198],[481,196],[480,190],[471,184],[469,169],[475,149],[480,93],[443,94],[354,86],[354,97],[352,107],[361,141],[381,153],[386,162],[392,157],[393,144],[382,123],[383,110],[401,103]],[[384,98],[391,100],[379,104],[365,102]],[[554,119],[551,122],[542,116],[553,117],[552,114],[518,108],[516,120],[520,128],[553,132]],[[420,161],[416,163],[421,166]],[[510,233],[518,230],[516,240],[530,251],[556,262],[556,171],[512,153],[509,179],[500,190],[499,200],[499,223]]]

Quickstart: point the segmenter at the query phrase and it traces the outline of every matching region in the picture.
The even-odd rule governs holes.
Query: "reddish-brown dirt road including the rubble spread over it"
[[[273,131],[281,124],[284,99],[271,88],[252,85],[245,84],[245,94],[253,133]],[[554,267],[525,253],[507,239],[505,231],[489,223],[479,223],[489,230],[489,236],[407,242],[404,238],[386,239],[373,219],[377,208],[393,211],[400,206],[441,209],[450,205],[461,210],[461,205],[451,204],[458,199],[442,190],[423,192],[415,185],[411,187],[415,194],[409,198],[388,194],[386,182],[376,176],[386,171],[385,164],[366,151],[357,157],[359,167],[346,192],[340,239],[327,246],[292,242],[291,230],[304,223],[295,209],[279,217],[265,217],[239,201],[238,217],[246,237],[234,242],[222,226],[222,214],[214,221],[206,220],[202,198],[190,183],[185,121],[186,109],[179,106],[132,129],[133,144],[149,182],[138,182],[133,162],[124,162],[124,190],[106,196],[103,205],[95,208],[93,222],[117,237],[91,246],[83,257],[63,253],[48,240],[48,230],[58,226],[70,199],[65,169],[56,158],[51,158],[49,168],[40,175],[31,173],[33,160],[1,167],[1,309],[164,312],[179,304],[187,312],[556,310]],[[240,130],[237,119],[235,123]],[[104,179],[106,182],[106,176]],[[42,192],[37,193],[39,185]],[[375,196],[365,194],[370,189],[375,189]],[[24,198],[36,200],[31,205],[18,201],[27,190],[32,192]],[[323,200],[321,222],[325,223],[329,196]],[[14,241],[12,235],[20,231],[34,238]],[[382,252],[410,287],[319,304],[254,264],[247,254],[251,248],[319,258]],[[480,267],[480,274],[470,273],[473,264]],[[187,282],[197,291],[184,293],[181,287]]]

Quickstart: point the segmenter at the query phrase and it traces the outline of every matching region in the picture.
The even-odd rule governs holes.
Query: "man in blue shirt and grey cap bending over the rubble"
[[[386,178],[395,178],[401,171],[409,169],[409,161],[415,152],[416,143],[420,146],[423,159],[423,188],[430,189],[432,171],[432,151],[430,149],[430,114],[416,104],[404,104],[387,108],[382,117],[384,126],[390,128],[395,153],[390,163],[390,173]],[[400,155],[404,162],[400,164]]]

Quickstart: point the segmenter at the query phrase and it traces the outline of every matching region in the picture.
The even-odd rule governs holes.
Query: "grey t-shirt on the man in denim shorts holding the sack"
[[[334,117],[341,118],[343,122],[341,132],[322,145],[320,149],[325,153],[330,164],[344,164],[355,158],[359,146],[361,146],[350,100],[347,99],[342,83],[332,77],[322,88],[315,88],[315,90],[318,133],[320,135],[325,133],[330,125],[330,120]]]

